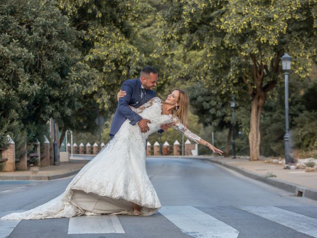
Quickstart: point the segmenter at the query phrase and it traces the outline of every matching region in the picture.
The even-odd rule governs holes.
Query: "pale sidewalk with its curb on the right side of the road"
[[[285,170],[283,165],[264,163],[262,160],[249,161],[241,158],[205,156],[196,158],[220,164],[249,178],[292,192],[294,195],[317,200],[317,172],[305,172],[304,169]],[[276,177],[266,178],[266,173],[271,173]]]

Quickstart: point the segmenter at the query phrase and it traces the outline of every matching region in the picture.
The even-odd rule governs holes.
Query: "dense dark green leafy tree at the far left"
[[[49,118],[77,109],[76,74],[86,67],[78,65],[77,32],[54,1],[3,0],[0,22],[1,144],[7,133],[24,144],[43,134]]]

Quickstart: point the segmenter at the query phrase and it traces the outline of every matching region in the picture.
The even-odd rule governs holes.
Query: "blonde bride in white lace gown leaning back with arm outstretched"
[[[34,209],[11,213],[1,220],[156,213],[161,205],[147,175],[145,142],[161,124],[173,123],[173,128],[189,139],[207,146],[213,153],[223,153],[186,128],[188,107],[188,95],[181,89],[175,89],[165,101],[153,98],[139,108],[131,107],[142,118],[151,120],[148,132],[141,133],[138,125],[131,125],[126,119],[113,139],[80,170],[62,194]]]

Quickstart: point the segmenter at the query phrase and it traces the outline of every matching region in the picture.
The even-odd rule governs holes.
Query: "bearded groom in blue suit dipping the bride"
[[[150,99],[155,97],[154,87],[157,86],[158,72],[154,67],[145,66],[140,73],[140,78],[128,79],[122,83],[121,90],[126,92],[124,97],[119,98],[118,106],[110,127],[110,140],[118,132],[122,123],[130,120],[130,124],[136,123],[140,127],[142,133],[149,131],[148,119],[143,119],[140,115],[133,112],[129,105],[137,108]],[[170,125],[161,125],[162,130],[166,130]]]

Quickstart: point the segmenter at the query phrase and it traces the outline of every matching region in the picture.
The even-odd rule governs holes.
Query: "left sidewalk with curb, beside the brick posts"
[[[73,160],[62,162],[58,166],[40,167],[38,172],[14,171],[0,172],[0,180],[51,180],[60,179],[77,174],[89,161]]]

